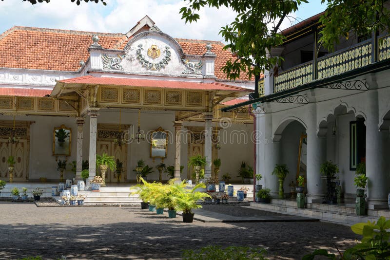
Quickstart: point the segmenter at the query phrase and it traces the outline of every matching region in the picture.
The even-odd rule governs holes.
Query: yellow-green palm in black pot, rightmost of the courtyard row
[[[202,205],[197,204],[199,200],[204,198],[211,198],[210,195],[204,192],[196,191],[198,188],[205,188],[203,183],[195,185],[191,190],[183,190],[174,197],[177,204],[177,209],[182,210],[182,217],[184,223],[192,223],[194,221],[195,213],[192,212],[193,208],[201,208]]]

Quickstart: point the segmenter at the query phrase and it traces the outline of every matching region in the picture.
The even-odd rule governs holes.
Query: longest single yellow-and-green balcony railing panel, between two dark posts
[[[369,39],[350,49],[344,49],[329,56],[321,57],[317,60],[317,78],[331,77],[367,66],[372,63],[371,53],[372,44]]]

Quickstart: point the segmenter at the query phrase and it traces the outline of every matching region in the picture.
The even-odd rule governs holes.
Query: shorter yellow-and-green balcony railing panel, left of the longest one
[[[312,81],[312,62],[299,65],[274,77],[274,92],[295,88]]]

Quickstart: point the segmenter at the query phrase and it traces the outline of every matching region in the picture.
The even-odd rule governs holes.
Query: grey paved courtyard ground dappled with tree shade
[[[204,210],[246,216],[276,213],[227,205]],[[37,207],[0,202],[0,259],[181,259],[207,245],[266,247],[271,260],[354,244],[348,226],[324,222],[182,223],[140,207]]]

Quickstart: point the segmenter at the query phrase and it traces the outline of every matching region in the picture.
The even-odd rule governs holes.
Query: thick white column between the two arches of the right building
[[[320,165],[326,161],[326,138],[317,136],[317,107],[310,103],[308,108],[307,187],[308,203],[322,203],[326,180],[321,179]]]

